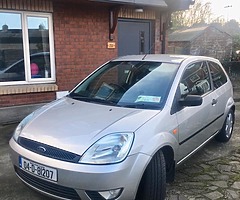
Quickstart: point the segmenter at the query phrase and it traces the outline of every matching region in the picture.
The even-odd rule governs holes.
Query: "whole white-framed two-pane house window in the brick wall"
[[[0,11],[0,85],[55,81],[51,14]]]

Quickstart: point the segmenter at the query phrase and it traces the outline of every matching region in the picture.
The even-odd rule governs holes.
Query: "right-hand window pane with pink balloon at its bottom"
[[[50,78],[49,23],[47,17],[27,17],[32,78]]]

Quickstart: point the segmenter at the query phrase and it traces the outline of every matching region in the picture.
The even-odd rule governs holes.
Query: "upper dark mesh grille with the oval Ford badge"
[[[23,138],[23,137],[19,137],[18,143],[22,147],[30,151],[33,151],[37,154],[62,160],[62,161],[77,163],[81,158],[80,155],[77,155],[75,153],[68,152],[53,146],[49,146],[40,142],[29,140],[27,138]]]

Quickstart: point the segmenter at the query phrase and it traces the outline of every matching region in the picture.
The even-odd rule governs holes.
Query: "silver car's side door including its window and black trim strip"
[[[200,95],[200,106],[183,107],[176,113],[179,123],[178,160],[189,155],[214,133],[211,79],[206,62],[192,63],[185,70],[180,82],[182,98],[186,95]]]

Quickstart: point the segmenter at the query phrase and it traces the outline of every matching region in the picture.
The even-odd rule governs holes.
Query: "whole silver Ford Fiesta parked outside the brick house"
[[[10,140],[17,176],[59,199],[163,200],[175,168],[234,125],[231,82],[197,56],[125,56],[28,115]]]

